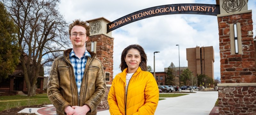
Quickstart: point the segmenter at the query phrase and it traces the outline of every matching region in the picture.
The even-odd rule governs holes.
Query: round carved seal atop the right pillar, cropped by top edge
[[[244,0],[224,0],[222,8],[228,13],[240,11],[245,5]]]

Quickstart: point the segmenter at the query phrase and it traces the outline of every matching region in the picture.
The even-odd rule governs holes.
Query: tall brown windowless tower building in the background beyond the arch
[[[214,79],[213,62],[214,50],[212,46],[187,48],[188,69],[196,74],[205,74]]]

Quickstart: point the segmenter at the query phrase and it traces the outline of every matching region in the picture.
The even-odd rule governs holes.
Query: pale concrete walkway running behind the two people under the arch
[[[182,90],[183,91],[183,90]],[[187,90],[189,91],[189,90]],[[189,95],[168,97],[158,102],[155,115],[218,115],[218,107],[214,104],[218,98],[218,91],[194,91]],[[35,108],[37,115],[56,114],[56,108],[48,105]],[[28,108],[22,110],[28,111]],[[33,110],[32,110],[33,111]],[[210,114],[211,113],[211,114]],[[98,111],[97,115],[110,115],[108,110]]]

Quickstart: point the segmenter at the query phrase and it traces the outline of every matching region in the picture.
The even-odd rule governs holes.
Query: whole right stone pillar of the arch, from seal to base
[[[252,10],[247,9],[247,0],[216,2],[220,4],[220,15],[217,15],[221,74],[219,114],[256,114]]]

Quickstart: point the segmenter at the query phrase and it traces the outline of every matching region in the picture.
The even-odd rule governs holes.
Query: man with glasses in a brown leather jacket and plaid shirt
[[[59,115],[96,115],[105,96],[105,75],[95,53],[85,49],[90,27],[75,20],[69,25],[72,49],[52,63],[47,95]]]

